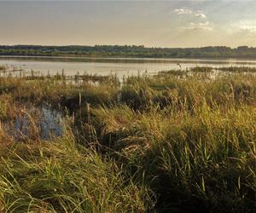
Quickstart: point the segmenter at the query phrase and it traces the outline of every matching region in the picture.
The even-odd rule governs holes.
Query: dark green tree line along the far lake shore
[[[147,48],[140,46],[40,46],[0,45],[0,55],[88,56],[88,57],[148,57],[148,58],[256,58],[256,48],[235,49],[217,46],[203,48]]]

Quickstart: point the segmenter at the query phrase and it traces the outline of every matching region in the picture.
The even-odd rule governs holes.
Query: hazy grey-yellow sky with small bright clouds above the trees
[[[1,44],[256,47],[256,1],[1,1]]]

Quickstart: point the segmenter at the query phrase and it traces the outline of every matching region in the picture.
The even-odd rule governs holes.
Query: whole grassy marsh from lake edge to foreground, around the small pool
[[[1,210],[253,212],[253,72],[197,67],[123,83],[0,78]],[[27,111],[45,104],[63,120],[62,135],[47,141],[40,116]],[[20,113],[22,141],[4,125]]]

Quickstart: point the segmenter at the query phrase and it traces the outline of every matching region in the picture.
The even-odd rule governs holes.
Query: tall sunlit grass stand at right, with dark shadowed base
[[[128,111],[128,112],[127,112]],[[256,111],[186,113],[98,109],[102,143],[125,170],[147,177],[160,211],[253,212]]]

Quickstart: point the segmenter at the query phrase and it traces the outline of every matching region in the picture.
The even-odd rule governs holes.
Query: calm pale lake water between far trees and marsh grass
[[[254,66],[256,60],[195,60],[195,59],[145,59],[145,58],[71,58],[71,57],[24,57],[0,56],[0,66],[10,69],[22,69],[26,72],[40,72],[44,75],[56,74],[64,70],[66,75],[78,72],[97,75],[117,74],[123,76],[137,75],[138,72],[154,73],[171,69],[186,69],[193,66]],[[18,74],[18,73],[17,73]]]

